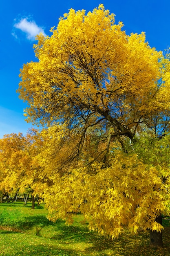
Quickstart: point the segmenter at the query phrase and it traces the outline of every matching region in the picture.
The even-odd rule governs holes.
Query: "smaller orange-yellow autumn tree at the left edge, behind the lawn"
[[[32,208],[34,195],[38,195],[45,183],[38,160],[41,144],[40,133],[34,128],[29,129],[26,136],[13,133],[0,139],[0,190],[10,195],[16,195],[18,191],[30,193]]]

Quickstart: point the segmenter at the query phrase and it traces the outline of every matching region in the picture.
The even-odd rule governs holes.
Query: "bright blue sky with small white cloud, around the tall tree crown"
[[[126,34],[146,32],[151,47],[170,47],[169,0],[0,0],[0,138],[12,132],[26,133],[32,127],[24,121],[26,103],[18,98],[20,68],[36,61],[35,35],[51,35],[58,18],[68,9],[92,11],[99,4],[122,21]]]

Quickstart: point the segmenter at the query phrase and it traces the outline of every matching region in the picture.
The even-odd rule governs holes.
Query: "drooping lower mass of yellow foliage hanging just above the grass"
[[[162,226],[155,218],[170,213],[166,207],[170,193],[159,177],[159,170],[144,164],[137,155],[126,156],[122,152],[110,162],[108,168],[97,164],[95,174],[78,168],[62,179],[55,176],[53,186],[44,193],[49,218],[68,218],[71,222],[71,213],[80,211],[90,229],[113,238],[124,227],[134,234],[141,228],[161,231]]]

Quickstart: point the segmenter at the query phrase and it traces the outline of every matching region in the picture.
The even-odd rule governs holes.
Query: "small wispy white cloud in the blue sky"
[[[14,27],[26,33],[26,38],[31,41],[34,41],[35,36],[40,33],[46,36],[44,29],[42,27],[38,27],[34,20],[29,21],[28,18],[22,18],[18,23],[14,24]],[[12,35],[17,38],[16,33],[13,32]]]

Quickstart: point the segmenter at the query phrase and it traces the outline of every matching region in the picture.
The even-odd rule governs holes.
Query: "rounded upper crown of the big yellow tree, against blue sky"
[[[144,32],[128,36],[114,17],[103,5],[87,14],[70,9],[51,37],[38,36],[38,62],[20,73],[27,121],[74,126],[104,117],[132,139],[140,123],[150,126],[153,112],[167,109],[169,61],[150,48]]]

